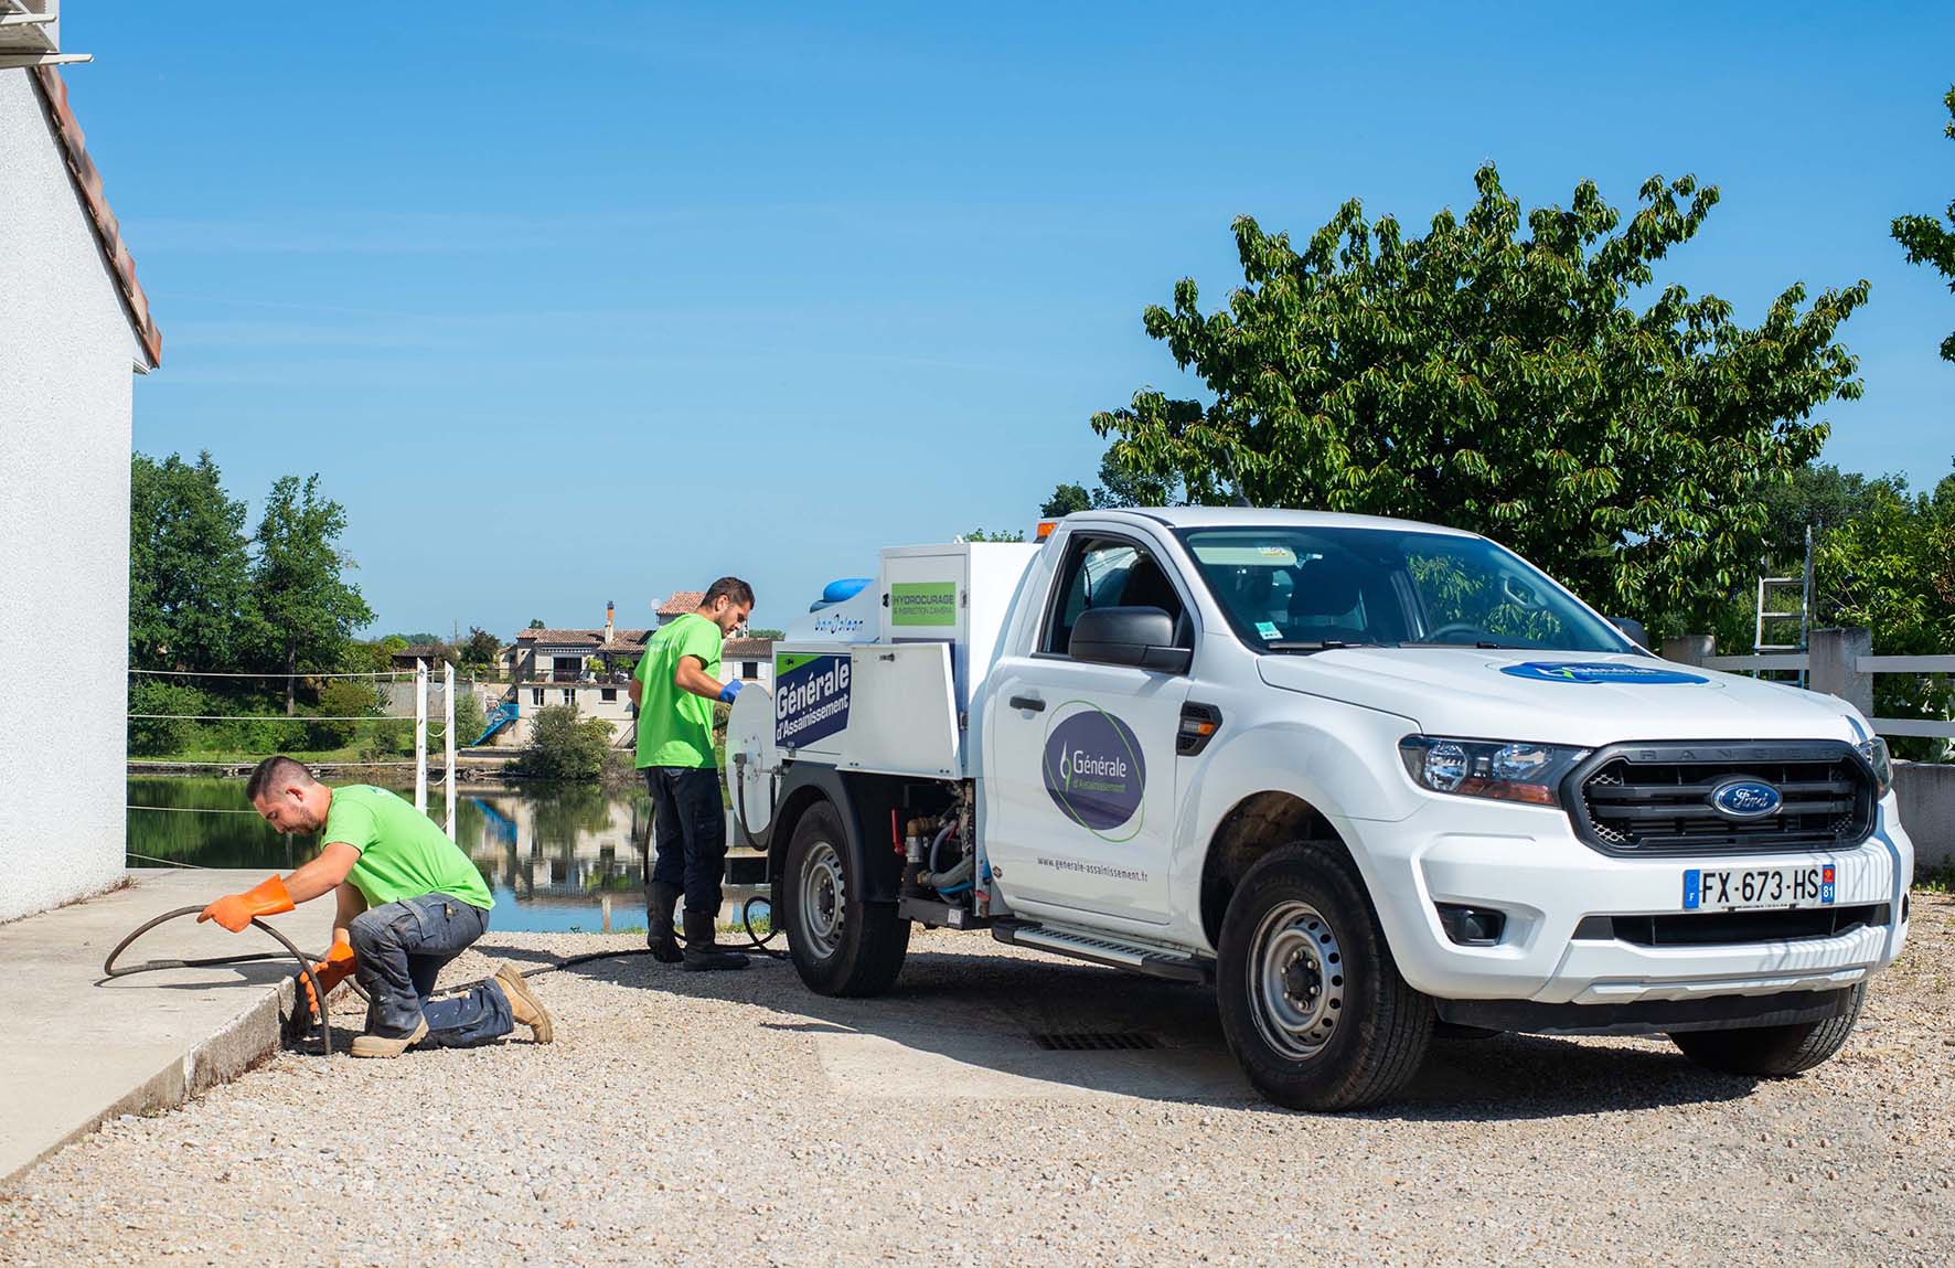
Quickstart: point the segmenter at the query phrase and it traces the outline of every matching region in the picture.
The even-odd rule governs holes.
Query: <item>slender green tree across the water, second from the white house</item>
[[[283,476],[272,485],[252,538],[260,648],[266,665],[285,675],[287,716],[297,706],[297,675],[336,667],[352,632],[373,620],[360,587],[342,575],[354,566],[338,548],[344,530],[346,511],[321,497],[319,476],[303,481]]]

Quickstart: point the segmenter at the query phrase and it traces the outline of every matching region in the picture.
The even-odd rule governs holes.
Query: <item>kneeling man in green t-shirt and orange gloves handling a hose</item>
[[[399,1057],[416,1043],[495,1043],[516,1023],[528,1025],[536,1043],[549,1043],[549,1014],[508,961],[479,986],[428,998],[442,965],[483,935],[495,906],[481,873],[434,820],[385,789],[328,789],[291,757],[260,761],[244,796],[264,822],[317,834],[323,849],[283,881],[272,877],[219,898],[197,922],[215,920],[239,933],[254,916],[336,894],[332,949],[313,973],[328,994],[348,974],[368,994],[368,1033],[354,1039],[354,1057]],[[301,976],[299,984],[311,1000],[311,982]]]

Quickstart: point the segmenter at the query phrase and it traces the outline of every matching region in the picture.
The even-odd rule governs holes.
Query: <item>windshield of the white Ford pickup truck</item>
[[[1539,648],[1636,652],[1521,556],[1392,528],[1185,528],[1202,581],[1259,652]]]

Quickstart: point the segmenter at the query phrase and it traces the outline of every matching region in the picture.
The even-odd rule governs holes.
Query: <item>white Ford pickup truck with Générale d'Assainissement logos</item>
[[[1625,628],[1482,536],[1351,515],[886,550],[737,699],[737,834],[817,992],[890,988],[913,922],[987,928],[1212,984],[1282,1106],[1382,1102],[1435,1031],[1810,1068],[1908,931],[1887,746]]]

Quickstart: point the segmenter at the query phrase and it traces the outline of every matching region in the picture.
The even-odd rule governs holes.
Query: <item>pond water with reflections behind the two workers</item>
[[[444,820],[440,787],[428,789],[428,814]],[[495,892],[491,929],[641,929],[649,824],[651,798],[633,789],[456,789],[456,843]],[[242,779],[129,777],[129,867],[291,871],[315,853],[315,838],[272,832],[252,812]],[[739,920],[739,902],[759,892],[727,886],[721,920]]]

